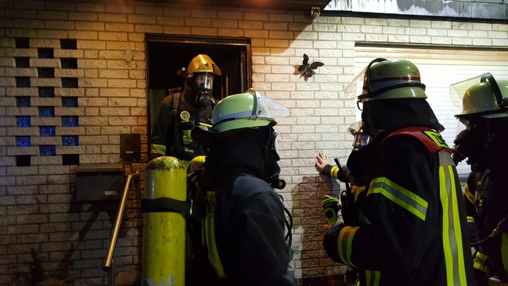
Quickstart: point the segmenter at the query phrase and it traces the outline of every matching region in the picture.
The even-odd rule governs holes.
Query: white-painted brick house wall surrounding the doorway
[[[350,138],[343,131],[355,106],[339,92],[353,77],[355,42],[506,47],[507,31],[507,24],[312,19],[149,2],[0,1],[0,284],[27,277],[33,253],[46,274],[74,285],[106,284],[101,268],[118,205],[77,202],[75,170],[78,162],[121,162],[122,133],[141,134],[146,161],[145,33],[251,38],[253,87],[290,110],[276,126],[288,183],[280,194],[294,214],[300,250],[291,269],[305,283],[343,271],[321,248],[319,207],[339,185],[316,176],[313,166],[319,151],[346,162]],[[325,63],[308,82],[294,75],[303,53]],[[142,172],[144,164],[125,169]],[[117,272],[142,267],[143,189],[143,181],[131,187]]]

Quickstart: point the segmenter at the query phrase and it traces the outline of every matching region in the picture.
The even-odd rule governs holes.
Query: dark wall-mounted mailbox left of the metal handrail
[[[76,167],[76,201],[119,199],[124,192],[124,184],[125,171],[121,163]]]

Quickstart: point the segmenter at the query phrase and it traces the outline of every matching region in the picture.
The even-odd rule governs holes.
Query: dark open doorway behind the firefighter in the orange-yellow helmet
[[[251,39],[148,34],[145,44],[149,138],[160,102],[169,89],[184,86],[185,78],[177,72],[181,67],[187,68],[194,56],[204,53],[221,69],[221,76],[214,81],[213,96],[217,101],[252,86]]]

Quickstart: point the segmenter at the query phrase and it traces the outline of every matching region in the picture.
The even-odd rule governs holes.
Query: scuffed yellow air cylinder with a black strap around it
[[[151,160],[145,170],[145,199],[187,200],[187,169],[174,157]],[[185,217],[179,212],[145,212],[143,286],[185,286]]]

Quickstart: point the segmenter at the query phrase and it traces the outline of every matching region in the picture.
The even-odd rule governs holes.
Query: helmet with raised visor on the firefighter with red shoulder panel
[[[358,90],[362,90],[357,95]],[[346,97],[359,101],[426,99],[420,71],[409,60],[376,58],[346,86]]]

